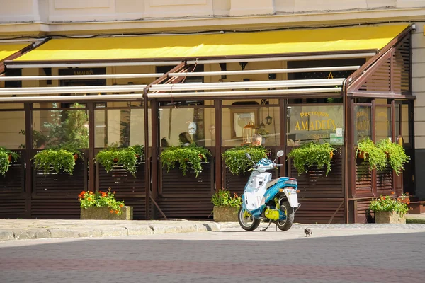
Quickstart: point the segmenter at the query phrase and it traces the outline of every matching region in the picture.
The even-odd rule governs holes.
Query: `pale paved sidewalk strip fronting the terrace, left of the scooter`
[[[37,238],[138,236],[219,230],[220,225],[213,221],[0,219],[0,241]]]

